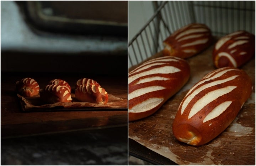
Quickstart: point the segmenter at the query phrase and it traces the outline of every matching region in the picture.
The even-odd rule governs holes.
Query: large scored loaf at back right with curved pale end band
[[[213,62],[217,68],[240,67],[255,55],[255,35],[236,31],[218,40],[213,50]]]

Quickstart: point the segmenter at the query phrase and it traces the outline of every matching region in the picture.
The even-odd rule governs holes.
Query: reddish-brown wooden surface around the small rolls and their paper
[[[33,135],[51,132],[76,131],[97,127],[127,126],[127,110],[86,110],[86,111],[37,111],[22,112],[17,93],[16,81],[32,77],[40,87],[51,79],[62,78],[74,90],[75,82],[82,74],[38,74],[38,73],[1,73],[1,138],[20,135]],[[106,91],[118,98],[127,99],[127,77],[89,76]]]

